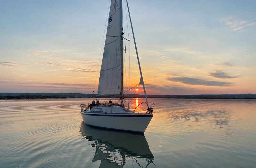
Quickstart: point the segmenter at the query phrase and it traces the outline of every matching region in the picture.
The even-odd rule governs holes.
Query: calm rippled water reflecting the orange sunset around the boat
[[[256,167],[256,100],[150,99],[144,135],[86,126],[88,101],[1,100],[0,167]]]

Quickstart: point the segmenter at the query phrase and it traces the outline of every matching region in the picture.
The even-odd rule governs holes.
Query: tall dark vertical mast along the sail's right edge
[[[120,0],[120,52],[121,52],[121,105],[124,106],[124,70],[123,70],[123,0]]]

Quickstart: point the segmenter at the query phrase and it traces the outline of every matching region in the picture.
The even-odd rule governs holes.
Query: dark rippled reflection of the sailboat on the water
[[[124,167],[130,164],[128,162],[145,168],[154,164],[154,156],[143,134],[94,128],[84,122],[80,129],[80,135],[90,141],[92,147],[96,147],[92,162],[101,160],[100,168]]]

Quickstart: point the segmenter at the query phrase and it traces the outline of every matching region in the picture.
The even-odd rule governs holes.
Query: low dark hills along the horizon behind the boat
[[[97,94],[83,93],[0,93],[0,99],[46,99],[46,98],[96,98]],[[125,94],[126,98],[145,98],[140,94]],[[256,94],[192,94],[192,95],[148,95],[148,98],[175,99],[256,99]]]

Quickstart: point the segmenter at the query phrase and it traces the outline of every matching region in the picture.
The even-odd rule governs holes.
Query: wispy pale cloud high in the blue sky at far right
[[[233,31],[239,31],[239,30],[243,31],[244,28],[256,24],[255,22],[250,22],[248,20],[236,19],[232,16],[224,17],[224,18],[220,19],[220,23],[225,23]]]

